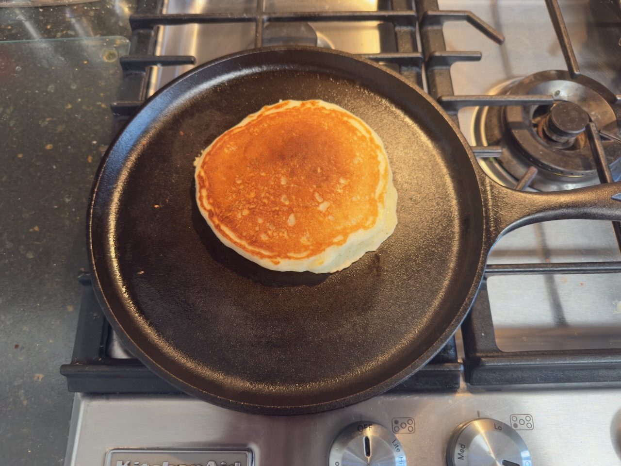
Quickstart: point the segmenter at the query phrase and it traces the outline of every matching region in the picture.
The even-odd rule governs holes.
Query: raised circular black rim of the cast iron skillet
[[[216,395],[215,393],[209,393],[207,391],[201,390],[201,388],[198,388],[197,386],[191,385],[190,383],[184,380],[181,380],[181,378],[177,377],[173,373],[166,370],[166,368],[162,367],[160,363],[156,362],[156,360],[153,359],[148,354],[147,351],[142,350],[140,345],[134,342],[130,334],[125,331],[122,324],[120,324],[119,320],[117,320],[116,318],[117,311],[112,310],[112,306],[109,303],[109,300],[106,298],[106,293],[104,292],[104,288],[106,287],[106,282],[105,282],[106,278],[108,279],[107,286],[109,288],[112,288],[113,285],[110,284],[112,280],[111,280],[111,274],[109,273],[110,271],[108,267],[103,267],[103,266],[100,267],[100,268],[106,269],[103,272],[107,274],[107,277],[101,275],[101,270],[99,271],[97,270],[96,261],[98,259],[96,258],[96,256],[99,257],[99,260],[101,260],[102,263],[104,263],[105,258],[106,258],[107,248],[104,247],[103,244],[97,245],[96,242],[95,243],[93,242],[93,218],[97,215],[94,212],[96,208],[96,202],[97,202],[97,193],[99,191],[101,178],[102,178],[102,175],[104,174],[104,171],[106,170],[106,165],[109,162],[111,153],[116,148],[117,143],[119,142],[121,137],[124,135],[125,131],[130,128],[132,122],[134,122],[134,120],[137,119],[137,117],[140,115],[143,109],[150,106],[150,104],[152,104],[152,102],[155,101],[155,99],[160,98],[161,96],[165,95],[168,89],[172,88],[173,86],[178,85],[178,83],[181,83],[183,80],[188,79],[190,76],[193,76],[194,74],[199,73],[204,68],[208,68],[210,66],[214,66],[219,63],[224,63],[229,60],[235,60],[238,57],[245,57],[247,55],[260,55],[261,53],[270,53],[270,52],[296,52],[296,51],[297,52],[328,53],[328,54],[333,54],[333,55],[339,55],[343,58],[347,58],[350,60],[356,60],[358,62],[365,63],[366,65],[373,66],[374,68],[378,68],[384,73],[388,73],[388,75],[391,75],[393,78],[396,78],[397,80],[402,81],[402,83],[404,83],[409,88],[411,88],[412,91],[414,91],[415,93],[419,94],[420,97],[426,99],[427,102],[431,104],[433,108],[435,108],[438,114],[442,116],[443,120],[446,123],[448,123],[450,129],[453,130],[455,135],[458,137],[458,140],[460,140],[461,146],[463,147],[463,150],[465,150],[466,154],[469,157],[471,165],[473,166],[473,176],[477,180],[479,196],[481,198],[481,219],[482,219],[481,232],[482,232],[482,235],[480,236],[479,242],[478,242],[478,244],[480,245],[481,252],[480,252],[476,272],[473,273],[472,284],[468,290],[468,293],[466,294],[466,299],[463,301],[463,304],[454,313],[453,318],[450,320],[450,322],[448,322],[448,325],[445,326],[445,330],[442,332],[440,337],[438,337],[436,342],[432,346],[428,347],[428,349],[422,355],[420,355],[417,359],[412,361],[412,363],[407,365],[407,367],[397,372],[396,374],[392,375],[392,377],[384,381],[381,381],[380,383],[377,383],[376,385],[366,388],[365,390],[357,391],[356,393],[353,393],[352,395],[348,395],[342,398],[337,398],[335,400],[324,401],[320,403],[299,404],[296,406],[292,406],[292,405],[274,406],[274,405],[268,405],[268,404],[258,404],[258,403],[255,404],[255,403],[247,403],[243,401],[231,400],[230,398],[225,398],[224,396]],[[429,96],[423,89],[419,88],[419,86],[415,86],[413,83],[410,83],[410,81],[406,80],[406,78],[404,78],[399,73],[396,73],[395,71],[389,70],[388,68],[378,65],[377,63],[371,60],[368,60],[366,58],[357,57],[355,55],[351,55],[350,53],[342,52],[340,50],[331,50],[331,49],[320,48],[320,47],[307,47],[307,46],[260,47],[260,48],[252,48],[249,50],[243,50],[242,52],[232,53],[230,55],[225,55],[224,57],[219,57],[215,60],[212,60],[211,62],[207,62],[207,63],[204,63],[203,65],[196,66],[196,68],[193,68],[187,73],[184,73],[183,75],[179,76],[175,80],[168,83],[166,86],[163,86],[156,93],[154,93],[150,98],[148,98],[142,104],[142,106],[138,107],[135,114],[132,115],[132,117],[130,117],[130,119],[125,123],[125,126],[122,127],[122,129],[120,129],[119,132],[117,132],[116,136],[114,137],[114,140],[112,140],[111,144],[106,150],[104,157],[102,157],[100,165],[96,171],[93,188],[91,190],[91,195],[89,197],[87,224],[86,224],[87,252],[88,252],[88,257],[89,257],[89,265],[91,267],[91,281],[93,282],[93,290],[97,297],[97,301],[99,301],[99,304],[101,305],[102,311],[104,311],[104,314],[106,315],[107,321],[111,324],[112,329],[114,329],[114,331],[117,332],[117,335],[120,337],[122,342],[125,345],[127,345],[130,352],[132,352],[132,354],[134,354],[135,357],[137,357],[137,359],[140,360],[140,362],[142,362],[145,366],[147,366],[150,370],[152,370],[152,372],[154,372],[156,375],[163,378],[163,380],[168,381],[172,385],[177,386],[178,388],[183,390],[185,393],[188,393],[189,395],[195,396],[196,398],[199,398],[204,401],[209,401],[210,403],[214,403],[219,406],[223,406],[225,408],[236,409],[238,411],[244,411],[247,413],[270,414],[270,415],[319,413],[321,411],[329,411],[330,409],[337,409],[343,406],[348,406],[350,404],[355,404],[360,401],[367,400],[368,398],[371,398],[372,396],[384,393],[384,391],[387,391],[393,386],[398,385],[401,381],[405,380],[406,378],[410,377],[412,374],[417,372],[417,370],[423,367],[430,359],[432,359],[438,352],[440,352],[440,350],[442,350],[442,348],[445,346],[448,339],[450,339],[450,337],[453,336],[453,334],[458,329],[463,319],[465,319],[466,314],[471,308],[474,302],[474,299],[476,298],[476,295],[481,286],[481,280],[483,278],[484,268],[487,262],[487,254],[491,247],[491,244],[489,244],[489,239],[488,239],[489,221],[487,217],[489,216],[489,209],[487,208],[488,206],[486,202],[486,196],[484,196],[486,188],[489,185],[487,185],[486,181],[484,181],[483,179],[484,176],[485,176],[484,173],[478,166],[478,162],[476,162],[476,158],[474,157],[474,153],[472,152],[470,145],[466,141],[465,137],[461,133],[461,130],[458,128],[456,123],[451,119],[451,117],[448,116],[448,114],[435,101],[435,99],[431,98],[431,96]],[[475,194],[476,193],[473,193],[473,196],[475,196]],[[102,212],[101,214],[99,214],[99,216],[105,218],[107,217],[107,214],[106,212]],[[97,248],[99,248],[100,251],[97,251]],[[473,262],[474,262],[474,259],[473,259]],[[104,282],[103,286],[102,286],[102,281]],[[111,293],[111,291],[109,291],[109,293]],[[122,306],[122,308],[123,309],[121,309],[120,312],[127,312],[126,306]]]

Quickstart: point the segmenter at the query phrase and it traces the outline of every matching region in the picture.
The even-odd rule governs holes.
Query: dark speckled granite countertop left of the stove
[[[135,1],[0,8],[0,452],[63,464],[84,222]]]

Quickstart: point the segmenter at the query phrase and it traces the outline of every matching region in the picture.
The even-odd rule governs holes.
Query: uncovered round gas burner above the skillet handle
[[[617,97],[597,81],[566,71],[542,71],[492,89],[492,94],[544,94],[553,105],[478,107],[473,120],[476,145],[499,145],[502,155],[481,158],[484,170],[500,183],[515,186],[528,167],[537,168],[532,188],[559,191],[599,183],[584,128],[593,121],[615,178],[621,178]]]

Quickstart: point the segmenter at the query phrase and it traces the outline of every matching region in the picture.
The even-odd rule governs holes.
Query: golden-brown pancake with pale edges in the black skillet
[[[215,235],[282,272],[337,272],[397,224],[379,136],[320,100],[281,101],[225,131],[194,162],[196,202]]]

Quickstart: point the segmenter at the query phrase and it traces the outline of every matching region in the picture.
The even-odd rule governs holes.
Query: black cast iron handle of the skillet
[[[621,221],[621,182],[553,193],[516,191],[483,178],[489,239],[531,223],[560,219]]]

